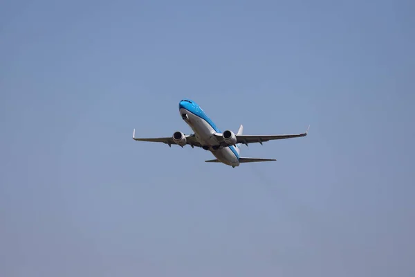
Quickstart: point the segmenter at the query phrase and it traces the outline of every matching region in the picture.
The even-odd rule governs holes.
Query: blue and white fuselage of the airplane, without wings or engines
[[[218,147],[219,141],[214,137],[215,133],[221,133],[213,121],[205,114],[203,109],[192,100],[181,100],[178,104],[181,117],[192,128],[196,140],[203,145],[203,149],[212,152],[214,157],[228,166],[239,166],[239,147]]]

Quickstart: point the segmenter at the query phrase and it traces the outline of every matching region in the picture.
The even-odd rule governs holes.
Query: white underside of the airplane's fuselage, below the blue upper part
[[[238,158],[229,147],[220,148],[218,150],[212,149],[212,145],[219,145],[219,141],[213,136],[216,131],[208,122],[206,122],[206,120],[192,114],[190,111],[187,111],[187,109],[180,109],[179,111],[180,114],[187,114],[189,119],[185,122],[192,128],[197,141],[199,141],[201,145],[209,146],[210,152],[212,152],[216,159],[228,166],[239,166]]]

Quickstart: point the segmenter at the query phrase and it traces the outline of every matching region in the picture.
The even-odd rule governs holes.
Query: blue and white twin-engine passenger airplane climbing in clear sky
[[[276,139],[291,139],[306,136],[306,132],[302,134],[279,134],[279,135],[245,135],[243,134],[243,125],[239,127],[237,134],[227,129],[221,132],[213,121],[205,114],[205,111],[196,104],[193,100],[183,99],[178,103],[178,110],[181,118],[192,128],[192,134],[183,134],[183,132],[174,132],[173,136],[160,138],[136,138],[136,129],[133,129],[133,139],[135,141],[148,141],[165,143],[172,147],[173,145],[180,145],[182,148],[185,145],[195,146],[212,152],[216,159],[205,161],[206,163],[224,163],[227,166],[235,168],[241,163],[253,163],[261,161],[277,161],[276,159],[261,159],[261,158],[247,158],[240,157],[241,144],[248,146],[248,143],[262,143]]]

